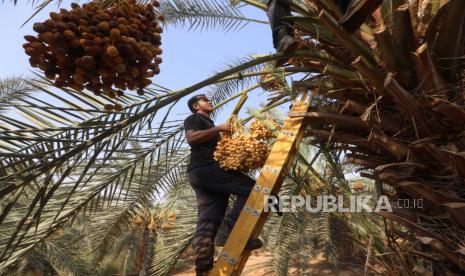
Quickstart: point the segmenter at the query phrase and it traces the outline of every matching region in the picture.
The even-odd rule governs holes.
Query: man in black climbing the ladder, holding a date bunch
[[[205,95],[197,95],[187,102],[192,115],[184,121],[187,142],[191,146],[188,179],[197,197],[197,227],[194,234],[195,271],[197,276],[207,275],[213,267],[214,240],[225,217],[229,195],[237,196],[231,212],[224,218],[229,233],[244,207],[255,183],[247,175],[224,171],[213,159],[221,132],[230,132],[228,124],[215,126],[210,118],[213,105]],[[227,235],[218,236],[215,244],[223,246]],[[263,246],[259,239],[251,239],[246,249]]]

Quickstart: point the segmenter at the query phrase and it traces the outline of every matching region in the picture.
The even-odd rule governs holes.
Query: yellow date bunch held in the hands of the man
[[[270,152],[269,140],[273,134],[260,121],[254,121],[249,133],[231,116],[232,135],[224,136],[216,147],[215,160],[225,170],[248,172],[263,167]],[[268,132],[265,132],[266,128]]]

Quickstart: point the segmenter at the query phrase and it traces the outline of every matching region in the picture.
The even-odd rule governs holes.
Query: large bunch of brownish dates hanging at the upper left
[[[159,2],[71,7],[51,12],[49,19],[34,24],[36,36],[25,36],[23,47],[31,66],[58,87],[86,88],[111,98],[126,89],[142,95],[150,78],[160,73],[163,16],[154,8]]]

